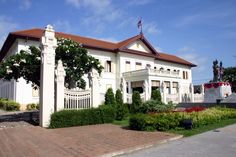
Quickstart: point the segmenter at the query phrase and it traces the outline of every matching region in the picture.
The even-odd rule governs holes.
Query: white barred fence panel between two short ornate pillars
[[[87,109],[91,107],[91,90],[65,90],[64,109]]]

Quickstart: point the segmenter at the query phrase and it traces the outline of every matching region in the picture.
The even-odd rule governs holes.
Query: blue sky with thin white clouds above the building
[[[56,31],[121,41],[143,33],[159,51],[198,65],[193,82],[212,79],[212,61],[236,66],[236,0],[0,0],[0,45],[11,31],[52,24]]]

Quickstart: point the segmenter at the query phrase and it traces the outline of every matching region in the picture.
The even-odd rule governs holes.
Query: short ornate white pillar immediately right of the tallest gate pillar
[[[57,64],[56,74],[56,111],[64,109],[64,83],[66,72],[64,70],[62,61],[59,60]]]

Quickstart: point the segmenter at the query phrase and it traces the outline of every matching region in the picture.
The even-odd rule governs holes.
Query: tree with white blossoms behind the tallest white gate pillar
[[[85,88],[86,82],[82,76],[95,68],[98,73],[102,72],[98,59],[88,55],[86,49],[70,39],[58,39],[56,48],[56,63],[62,60],[65,67],[65,86],[67,88]],[[40,64],[41,51],[35,46],[30,46],[28,51],[21,50],[20,53],[6,58],[0,64],[0,78],[4,80],[23,77],[27,83],[31,82],[34,88],[40,86]]]

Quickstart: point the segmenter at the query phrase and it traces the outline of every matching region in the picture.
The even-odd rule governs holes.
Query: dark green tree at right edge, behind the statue
[[[232,84],[232,91],[236,92],[236,67],[228,67],[224,69],[223,81]]]

